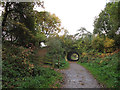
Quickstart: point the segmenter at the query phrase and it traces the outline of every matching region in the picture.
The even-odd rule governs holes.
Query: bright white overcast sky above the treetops
[[[101,10],[105,8],[107,0],[42,0],[45,11],[54,13],[61,20],[61,25],[74,35],[78,29],[85,27],[93,32],[93,22]],[[37,8],[38,11],[43,11]]]

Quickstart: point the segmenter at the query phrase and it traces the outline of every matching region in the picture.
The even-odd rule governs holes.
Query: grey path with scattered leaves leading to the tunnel
[[[72,62],[70,68],[61,70],[65,75],[62,88],[100,88],[96,79],[82,66]]]

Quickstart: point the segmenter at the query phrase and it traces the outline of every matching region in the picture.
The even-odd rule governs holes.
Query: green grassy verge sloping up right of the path
[[[98,82],[105,85],[106,88],[117,88],[120,83],[120,72],[118,71],[119,55],[120,53],[105,58],[96,58],[91,62],[78,63],[88,69]]]

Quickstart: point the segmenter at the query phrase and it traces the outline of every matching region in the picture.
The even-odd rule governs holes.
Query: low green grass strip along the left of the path
[[[19,73],[14,71],[13,74]],[[3,88],[52,88],[60,86],[54,83],[62,80],[61,73],[58,73],[50,68],[38,67],[35,70],[35,76],[24,76],[24,77],[6,77],[3,76],[4,85]],[[7,83],[7,86],[6,84]],[[53,86],[54,85],[54,86]]]

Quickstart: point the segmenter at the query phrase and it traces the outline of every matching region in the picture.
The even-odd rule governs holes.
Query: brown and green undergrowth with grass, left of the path
[[[34,59],[37,57],[30,48],[3,44],[2,88],[51,88],[62,79],[53,69],[35,65]]]

